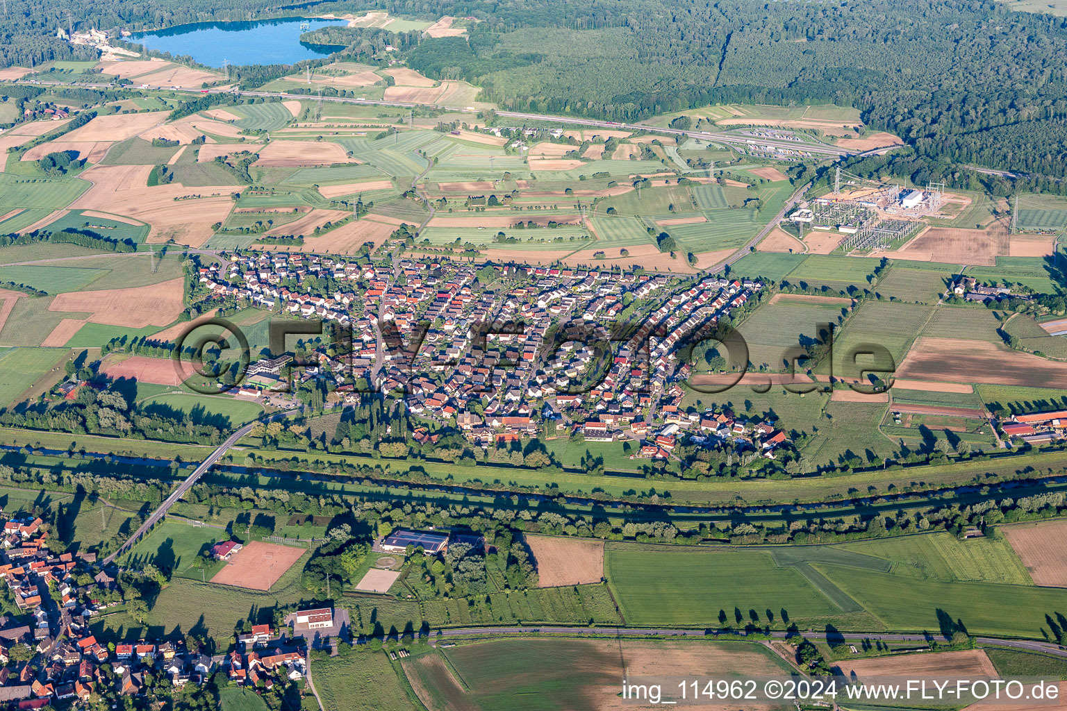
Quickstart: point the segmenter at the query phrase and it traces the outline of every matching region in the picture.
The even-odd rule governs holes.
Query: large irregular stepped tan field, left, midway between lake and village
[[[148,188],[149,173],[150,165],[94,165],[81,176],[93,187],[71,207],[106,209],[152,225],[147,242],[174,240],[193,247],[207,242],[214,233],[211,225],[224,221],[234,207],[232,185]]]

